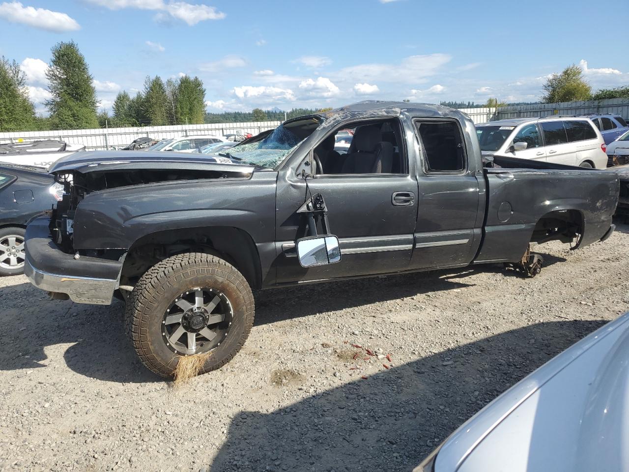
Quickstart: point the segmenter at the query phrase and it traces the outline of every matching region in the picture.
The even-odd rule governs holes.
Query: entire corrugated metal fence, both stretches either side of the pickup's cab
[[[584,115],[587,113],[611,113],[629,120],[629,99],[572,101],[564,103],[535,103],[530,105],[501,106],[496,108],[462,108],[474,123],[501,120],[503,118],[532,118],[548,115]],[[252,123],[213,123],[207,125],[143,126],[141,128],[100,128],[96,130],[62,130],[39,132],[0,133],[0,143],[18,140],[35,141],[60,139],[84,144],[87,149],[118,149],[142,136],[156,139],[175,138],[187,135],[217,135],[229,133],[256,135],[275,128],[281,121],[257,121]]]

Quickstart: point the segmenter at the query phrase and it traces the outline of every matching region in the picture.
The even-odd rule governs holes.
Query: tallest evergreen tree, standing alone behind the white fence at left
[[[52,98],[46,101],[53,126],[58,129],[97,128],[96,90],[85,57],[74,41],[52,47],[46,72]]]

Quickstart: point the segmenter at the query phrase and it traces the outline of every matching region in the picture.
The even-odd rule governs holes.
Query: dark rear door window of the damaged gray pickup
[[[465,149],[454,121],[416,121],[428,172],[460,172],[465,169]]]

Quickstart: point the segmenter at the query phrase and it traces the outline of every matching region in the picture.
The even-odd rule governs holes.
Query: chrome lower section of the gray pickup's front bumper
[[[116,279],[50,274],[33,267],[28,261],[28,257],[24,264],[24,274],[37,288],[53,293],[65,293],[75,303],[92,305],[111,305],[118,282]]]

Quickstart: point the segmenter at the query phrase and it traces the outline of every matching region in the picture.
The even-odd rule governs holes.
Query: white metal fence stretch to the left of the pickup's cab
[[[190,135],[225,136],[245,135],[276,128],[281,121],[255,121],[251,123],[211,123],[206,125],[142,126],[138,128],[96,128],[93,130],[59,130],[0,133],[0,143],[59,139],[79,143],[88,150],[120,149],[136,138],[148,136],[155,139],[177,138]]]

